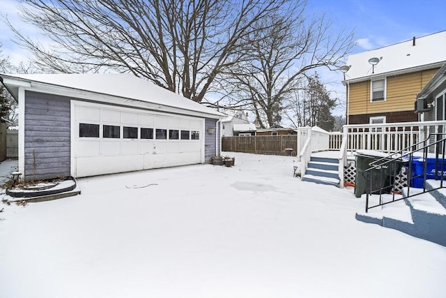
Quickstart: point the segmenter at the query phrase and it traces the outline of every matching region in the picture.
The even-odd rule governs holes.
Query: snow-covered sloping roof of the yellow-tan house
[[[380,47],[376,50],[353,54],[347,59],[351,68],[346,72],[346,82],[362,77],[407,70],[420,66],[429,66],[446,61],[446,31]],[[383,57],[372,70],[369,59]]]

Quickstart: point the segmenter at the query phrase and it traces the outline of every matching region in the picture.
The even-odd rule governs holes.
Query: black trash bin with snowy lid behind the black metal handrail
[[[396,159],[392,161],[390,158],[383,158],[383,156],[374,156],[372,154],[367,154],[364,152],[357,152],[356,156],[356,180],[355,180],[355,196],[360,198],[361,195],[366,193],[367,189],[367,175],[364,172],[381,163],[386,161],[391,161],[386,163],[382,167],[376,168],[369,171],[371,175],[371,190],[370,193],[390,193],[394,183],[394,175],[399,174],[401,171],[401,161]],[[378,163],[371,165],[376,161],[380,160]]]

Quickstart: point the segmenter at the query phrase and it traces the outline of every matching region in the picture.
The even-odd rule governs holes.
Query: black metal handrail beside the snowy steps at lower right
[[[440,170],[440,173],[441,173],[442,177],[443,177],[443,173],[445,172],[445,168],[444,168],[445,167],[445,163],[443,161],[445,161],[446,137],[443,138],[442,140],[437,140],[436,142],[433,142],[431,144],[426,145],[426,142],[427,142],[427,140],[429,140],[429,137],[431,137],[431,135],[446,135],[446,133],[431,133],[430,135],[428,135],[428,137],[426,137],[425,140],[415,144],[416,145],[415,148],[417,148],[419,144],[424,144],[424,146],[421,147],[421,148],[408,151],[409,148],[414,147],[414,145],[411,145],[410,147],[406,147],[405,149],[402,149],[402,150],[400,150],[398,152],[394,152],[393,154],[390,154],[390,155],[385,156],[383,158],[379,158],[378,160],[372,161],[371,163],[369,163],[369,165],[372,165],[372,166],[369,167],[367,170],[364,170],[364,172],[362,172],[362,175],[363,175],[364,179],[366,179],[366,181],[367,181],[367,183],[366,183],[366,206],[365,206],[366,213],[369,211],[369,209],[374,208],[374,207],[383,206],[385,204],[390,204],[392,202],[397,202],[399,200],[403,200],[403,199],[406,199],[406,198],[411,198],[411,197],[414,197],[416,195],[421,195],[422,193],[429,193],[431,191],[436,191],[436,190],[438,190],[440,188],[446,187],[446,186],[443,186],[443,179],[440,179],[440,187],[433,188],[431,190],[427,190],[426,191],[426,186],[423,183],[423,191],[422,192],[410,195],[410,183],[409,183],[409,181],[412,178],[412,167],[411,167],[411,165],[413,163],[413,154],[415,152],[423,151],[423,158],[424,158],[424,163],[423,163],[423,181],[426,181],[426,174],[427,174],[426,173],[426,167],[427,167],[427,162],[426,161],[427,161],[427,156],[428,156],[428,149],[433,147],[433,146],[438,147],[438,145],[443,144],[443,146],[442,146],[442,148],[443,148],[442,151],[443,152],[442,152],[442,156],[441,156],[442,157],[441,158],[442,159],[442,163],[441,163],[441,170]],[[404,151],[408,151],[408,152],[404,153]],[[408,158],[405,158],[407,156],[408,156]],[[434,178],[436,180],[438,179],[438,157],[439,157],[439,153],[438,153],[438,150],[436,150],[436,161],[435,161],[435,170],[434,170],[434,172],[435,172]],[[379,188],[379,193],[378,193],[379,194],[379,203],[376,204],[376,205],[373,205],[373,206],[369,206],[369,202],[370,202],[369,201],[369,195],[374,191],[372,189],[372,187],[371,187],[372,186],[372,181],[373,181],[373,175],[371,173],[376,171],[376,170],[378,170],[379,171],[380,181],[383,181],[384,171],[386,169],[388,169],[388,167],[390,165],[392,165],[392,163],[394,163],[394,166],[392,167],[393,168],[393,177],[396,177],[397,174],[399,174],[399,172],[397,172],[397,170],[396,170],[397,166],[395,166],[397,162],[398,163],[408,163],[409,164],[409,166],[407,167],[408,170],[406,172],[407,177],[408,177],[408,186],[407,186],[407,195],[406,195],[406,197],[405,198],[397,198],[396,199],[395,198],[396,192],[392,191],[392,200],[388,201],[388,202],[383,202],[383,186],[381,186]],[[399,169],[399,171],[401,171],[401,168]],[[388,187],[392,187],[392,189],[394,189],[395,188],[395,181],[393,181],[393,184],[388,186]]]

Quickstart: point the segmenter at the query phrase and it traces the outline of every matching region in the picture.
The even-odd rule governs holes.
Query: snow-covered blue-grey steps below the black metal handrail
[[[426,180],[426,190],[438,188],[436,184],[439,183]],[[410,195],[417,191],[420,195],[369,209],[368,213],[357,212],[356,219],[446,246],[446,188],[428,193],[422,193],[418,188],[410,188],[409,191]],[[403,192],[403,197],[407,196],[406,192]],[[378,195],[372,197],[378,198]]]

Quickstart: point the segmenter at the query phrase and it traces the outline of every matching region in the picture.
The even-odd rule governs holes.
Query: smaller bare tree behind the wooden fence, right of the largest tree
[[[246,36],[251,40],[246,59],[226,73],[221,89],[227,105],[252,110],[261,127],[282,120],[308,70],[337,69],[354,45],[353,33],[334,33],[325,15],[307,17],[306,3],[296,0],[282,8],[267,29],[256,23],[262,29]]]

